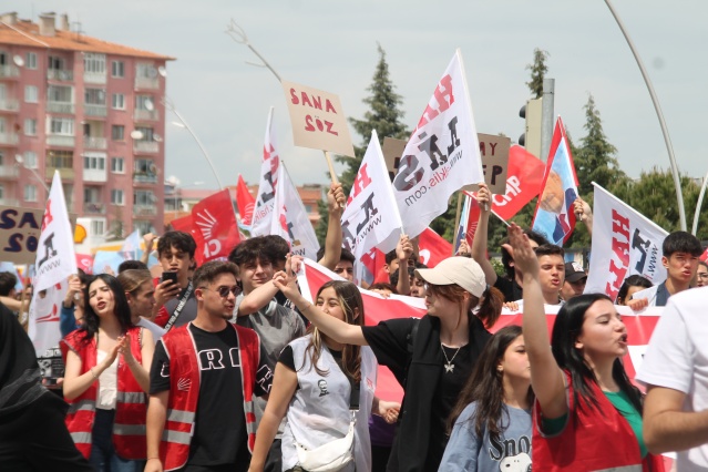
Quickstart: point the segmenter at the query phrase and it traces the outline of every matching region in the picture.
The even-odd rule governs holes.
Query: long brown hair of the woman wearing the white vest
[[[317,291],[317,298],[327,288],[334,288],[339,298],[339,304],[345,312],[345,322],[349,325],[363,326],[363,300],[361,294],[356,285],[350,281],[342,280],[329,280],[322,285]],[[359,311],[357,316],[356,311]],[[309,356],[310,365],[315,367],[315,370],[320,376],[327,376],[328,370],[322,370],[317,367],[317,362],[322,352],[322,335],[314,325],[310,325],[307,332],[311,335],[310,342],[305,350]],[[302,360],[302,367],[305,368],[306,361]],[[361,380],[361,347],[353,345],[345,345],[341,352],[341,367],[345,374],[355,381]],[[298,369],[299,370],[299,369]]]

